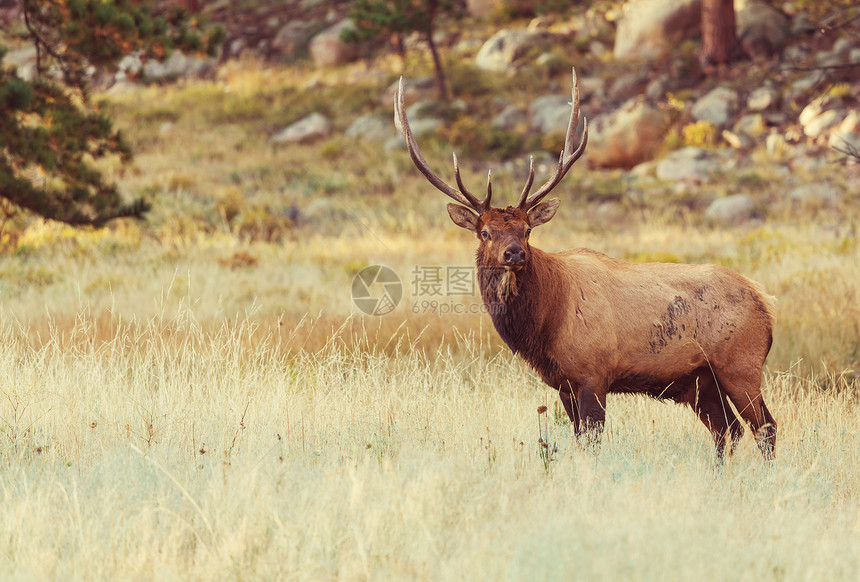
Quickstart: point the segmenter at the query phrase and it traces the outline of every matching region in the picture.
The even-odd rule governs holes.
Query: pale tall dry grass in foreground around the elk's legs
[[[769,373],[778,455],[723,467],[681,407],[609,402],[583,449],[555,394],[461,336],[286,354],[253,319],[4,315],[3,579],[853,579],[860,413]],[[549,404],[548,431],[537,407]],[[548,434],[546,434],[548,432]],[[540,436],[547,437],[549,458]]]

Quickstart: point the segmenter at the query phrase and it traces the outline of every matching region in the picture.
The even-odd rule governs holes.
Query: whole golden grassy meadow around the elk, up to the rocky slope
[[[393,78],[240,63],[103,97],[137,153],[105,171],[154,209],[4,227],[0,578],[854,580],[857,168],[787,175],[761,154],[701,187],[755,194],[762,219],[735,227],[673,185],[571,172],[535,246],[717,262],[779,300],[773,463],[747,435],[717,465],[692,411],[634,396],[610,398],[590,450],[487,315],[422,307],[416,266],[469,265],[475,241],[404,152],[267,143],[314,106],[308,87],[342,130],[387,111]],[[450,149],[427,143],[440,173]],[[475,162],[469,184],[493,164]],[[836,205],[785,200],[822,181]],[[404,283],[378,318],[350,297],[374,264]]]

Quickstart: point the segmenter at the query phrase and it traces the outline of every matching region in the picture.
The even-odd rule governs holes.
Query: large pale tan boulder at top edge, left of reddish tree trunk
[[[630,0],[615,33],[620,61],[649,60],[671,53],[678,41],[701,31],[701,0]]]

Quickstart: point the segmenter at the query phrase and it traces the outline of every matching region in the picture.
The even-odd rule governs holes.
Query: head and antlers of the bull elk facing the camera
[[[406,108],[403,103],[403,78],[394,96],[394,121],[406,138],[406,147],[415,166],[421,171],[427,180],[443,194],[452,198],[457,204],[448,204],[448,215],[454,224],[470,230],[478,237],[478,265],[482,268],[495,268],[503,272],[502,281],[499,286],[499,299],[506,300],[511,295],[516,295],[516,279],[514,273],[526,268],[530,258],[529,235],[533,228],[549,222],[555,216],[561,200],[553,198],[543,201],[544,197],[558,185],[574,162],[579,159],[585,151],[588,141],[588,120],[584,122],[584,129],[579,145],[574,149],[573,137],[579,125],[579,86],[576,82],[576,70],[572,71],[573,89],[571,91],[573,101],[571,102],[570,122],[564,140],[564,149],[558,158],[558,166],[555,173],[537,192],[529,195],[535,178],[534,158],[529,160],[529,175],[526,184],[520,194],[516,206],[507,208],[493,208],[490,201],[493,197],[492,171],[487,174],[487,195],[478,200],[466,186],[460,177],[460,165],[457,154],[454,154],[454,177],[457,181],[457,189],[448,185],[437,176],[427,165],[427,161],[421,154],[415,136],[409,127],[406,117]]]

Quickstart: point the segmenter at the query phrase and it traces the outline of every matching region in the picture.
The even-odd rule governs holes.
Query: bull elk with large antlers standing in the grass
[[[774,456],[776,421],[761,393],[762,366],[773,339],[773,301],[757,283],[719,265],[627,263],[589,249],[544,252],[532,229],[555,215],[543,201],[582,155],[588,122],[574,149],[579,88],[555,173],[529,195],[534,159],[516,206],[494,208],[466,189],[454,155],[453,188],[436,175],[409,128],[403,79],[395,123],[427,180],[452,198],[454,224],[477,236],[481,297],[505,343],[559,391],[577,435],[597,442],[608,393],[640,393],[687,404],[713,436],[718,458],[731,453],[750,424],[766,459]]]

